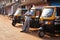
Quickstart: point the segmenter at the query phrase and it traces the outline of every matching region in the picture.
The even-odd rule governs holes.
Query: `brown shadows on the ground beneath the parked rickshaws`
[[[22,25],[15,26],[16,28],[22,28]],[[24,32],[25,33],[25,32]],[[29,33],[26,33],[28,35],[35,36],[36,38],[40,38],[38,35],[38,30],[30,30]],[[50,36],[50,34],[46,34],[42,40],[60,40],[60,36]]]

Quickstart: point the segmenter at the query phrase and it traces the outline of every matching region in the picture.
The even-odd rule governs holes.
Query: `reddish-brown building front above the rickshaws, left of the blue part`
[[[47,6],[47,0],[21,0],[21,6],[25,7],[27,5],[34,4],[36,7],[43,7]]]

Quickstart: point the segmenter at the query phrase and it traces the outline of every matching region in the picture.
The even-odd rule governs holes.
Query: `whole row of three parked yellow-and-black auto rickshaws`
[[[55,35],[56,33],[60,34],[60,6],[45,6],[42,9],[36,8],[32,10],[34,10],[34,15],[31,17],[30,27],[39,28],[39,37],[44,37],[46,32],[51,33],[51,35]],[[26,12],[27,10],[24,11]],[[15,26],[16,23],[20,23],[22,19],[24,22],[23,14],[14,16],[12,25]]]

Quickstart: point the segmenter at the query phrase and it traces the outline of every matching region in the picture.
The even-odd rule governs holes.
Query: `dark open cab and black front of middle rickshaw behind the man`
[[[41,9],[35,9],[34,16],[32,16],[32,20],[30,21],[30,27],[32,28],[40,27],[39,19],[40,19],[41,12],[42,12]]]

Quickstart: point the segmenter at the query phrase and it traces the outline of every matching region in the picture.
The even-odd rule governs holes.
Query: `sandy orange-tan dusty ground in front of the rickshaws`
[[[22,33],[21,25],[13,27],[8,17],[0,15],[0,40],[60,40],[60,37],[38,37],[38,32]]]

